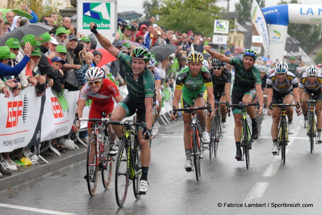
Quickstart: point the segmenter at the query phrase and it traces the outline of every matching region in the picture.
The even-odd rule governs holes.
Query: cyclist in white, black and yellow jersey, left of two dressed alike
[[[275,73],[272,73],[266,81],[267,86],[267,104],[272,102],[273,104],[292,104],[295,102],[300,103],[298,95],[298,78],[291,72],[288,72],[288,65],[284,61],[280,61],[275,65]],[[282,98],[284,98],[282,100]],[[279,133],[279,120],[280,120],[280,108],[273,107],[273,110],[268,109],[267,114],[273,115],[273,123],[271,127],[271,134],[273,139],[272,153],[276,155],[278,152],[277,137]],[[287,116],[289,119],[288,129],[289,133],[294,133],[294,126],[292,124],[293,108],[286,107]],[[298,115],[301,114],[301,109],[296,109]],[[291,131],[290,131],[291,130]]]

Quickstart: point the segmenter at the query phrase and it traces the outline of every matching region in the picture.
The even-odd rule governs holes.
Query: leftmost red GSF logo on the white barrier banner
[[[8,117],[6,128],[12,128],[18,125],[18,118],[22,116],[23,101],[10,101],[8,102]]]

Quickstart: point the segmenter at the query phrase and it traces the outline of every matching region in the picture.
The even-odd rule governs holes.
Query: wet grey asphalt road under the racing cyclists
[[[268,116],[263,121],[260,138],[252,145],[250,168],[246,169],[244,161],[237,162],[231,116],[227,118],[229,129],[220,140],[217,157],[209,160],[209,152],[204,152],[197,182],[194,172],[184,169],[183,124],[178,122],[175,129],[159,133],[153,140],[150,187],[139,200],[130,185],[123,208],[118,208],[115,165],[109,189],[104,190],[99,182],[96,194],[90,197],[83,179],[85,162],[81,162],[53,176],[21,185],[18,193],[0,193],[0,214],[321,214],[322,148],[315,145],[310,153],[301,119],[302,116],[294,116],[295,133],[290,135],[285,165],[279,156],[270,153]],[[255,207],[245,207],[249,203]],[[291,203],[295,205],[285,205]],[[16,206],[32,209],[21,210]]]

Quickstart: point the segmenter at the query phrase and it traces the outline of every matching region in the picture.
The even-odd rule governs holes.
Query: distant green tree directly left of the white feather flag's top
[[[265,0],[257,0],[261,8],[265,7]],[[239,0],[235,3],[235,11],[238,13],[238,23],[245,24],[245,21],[251,21],[251,3],[252,0]]]

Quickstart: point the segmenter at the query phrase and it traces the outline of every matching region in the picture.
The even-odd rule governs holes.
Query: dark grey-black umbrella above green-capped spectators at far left
[[[10,31],[9,33],[6,33],[2,38],[0,38],[0,46],[4,46],[5,42],[9,38],[16,38],[19,39],[19,41],[27,34],[32,34],[35,37],[38,37],[46,32],[49,32],[54,27],[41,24],[41,23],[33,23],[30,25],[24,25],[18,28],[15,28],[14,30]]]

